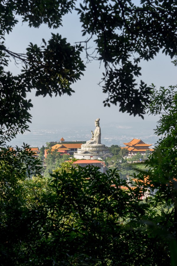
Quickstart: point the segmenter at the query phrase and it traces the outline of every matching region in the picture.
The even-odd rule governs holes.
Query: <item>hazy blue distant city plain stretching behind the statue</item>
[[[110,147],[111,145],[124,146],[123,142],[128,142],[133,138],[142,139],[148,144],[155,144],[158,141],[158,136],[154,135],[153,129],[155,122],[146,122],[144,127],[140,126],[141,122],[129,123],[109,123],[100,124],[101,126],[101,143]],[[60,142],[61,137],[65,141],[87,141],[91,138],[91,130],[94,126],[39,126],[36,125],[31,128],[31,132],[26,132],[21,135],[18,134],[17,138],[12,140],[9,144],[12,147],[21,146],[24,143],[29,144],[31,147],[45,146],[46,142]]]

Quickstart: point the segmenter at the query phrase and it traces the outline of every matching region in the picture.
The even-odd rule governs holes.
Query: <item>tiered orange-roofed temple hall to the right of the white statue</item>
[[[128,157],[132,157],[137,153],[145,155],[146,151],[149,150],[152,152],[154,149],[150,149],[149,146],[152,144],[146,144],[142,140],[133,139],[130,142],[124,143],[126,147],[121,147],[121,149],[127,149],[129,151]]]

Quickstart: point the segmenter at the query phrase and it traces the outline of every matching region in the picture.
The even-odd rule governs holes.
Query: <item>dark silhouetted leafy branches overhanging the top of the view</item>
[[[88,59],[104,62],[103,92],[108,93],[104,105],[120,104],[120,111],[142,116],[149,103],[150,87],[136,77],[141,75],[139,62],[150,60],[163,49],[171,58],[176,54],[176,1],[83,0],[77,1],[1,1],[0,4],[0,125],[13,132],[27,129],[32,103],[26,93],[36,88],[36,95],[71,95],[71,85],[80,79],[85,66],[80,53],[86,48]],[[78,11],[86,41],[70,45],[59,34],[42,39],[42,45],[30,43],[26,53],[15,53],[6,48],[5,35],[22,18],[30,27],[42,23],[49,28],[62,25],[62,17],[74,9]],[[45,37],[45,36],[44,36]],[[95,55],[87,49],[94,38]],[[133,57],[132,57],[133,55]],[[6,70],[9,61],[22,63],[21,73],[14,76]],[[18,125],[18,126],[17,126]],[[18,128],[18,129],[17,129]],[[3,133],[4,128],[1,129]],[[11,135],[13,135],[11,132]]]

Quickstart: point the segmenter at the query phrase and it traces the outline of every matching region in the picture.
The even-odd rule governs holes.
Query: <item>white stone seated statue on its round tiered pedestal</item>
[[[91,140],[81,145],[74,153],[76,159],[96,160],[109,153],[109,149],[101,144],[101,129],[99,126],[99,118],[95,120],[96,129],[94,132],[91,130]]]

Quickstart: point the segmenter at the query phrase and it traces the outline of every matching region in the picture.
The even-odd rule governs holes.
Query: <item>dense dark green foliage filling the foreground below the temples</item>
[[[18,204],[5,208],[1,198],[1,265],[169,264],[170,202],[141,200],[142,188],[132,191],[116,171],[70,170],[16,177]]]

